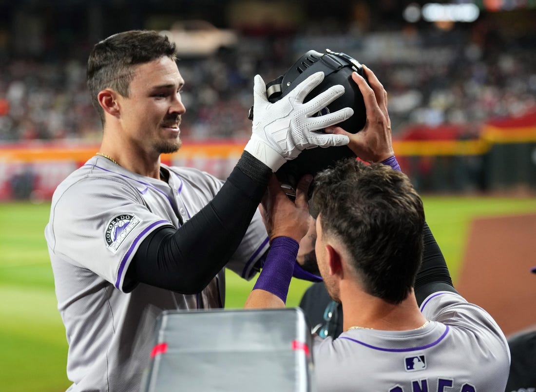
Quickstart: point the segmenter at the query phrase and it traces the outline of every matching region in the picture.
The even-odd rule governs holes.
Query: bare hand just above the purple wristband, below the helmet
[[[296,187],[296,199],[292,201],[281,189],[281,184],[275,175],[270,178],[260,213],[270,242],[276,237],[290,237],[297,242],[309,230],[309,206],[307,204],[307,191],[312,176],[303,176]]]

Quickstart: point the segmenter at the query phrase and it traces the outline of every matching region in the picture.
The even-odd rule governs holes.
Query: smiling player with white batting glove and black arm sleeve
[[[70,391],[139,390],[157,316],[224,306],[224,267],[254,275],[269,246],[257,207],[272,172],[304,148],[349,141],[311,132],[352,115],[345,108],[312,117],[344,93],[334,86],[303,103],[322,79],[312,75],[272,104],[255,77],[252,136],[222,183],[160,162],[181,144],[175,45],[129,31],[94,46],[87,85],[102,144],[57,187],[45,229]]]

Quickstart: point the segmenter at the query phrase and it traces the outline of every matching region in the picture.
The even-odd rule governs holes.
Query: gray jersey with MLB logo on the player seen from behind
[[[442,291],[421,312],[431,321],[420,329],[316,336],[318,391],[504,392],[510,351],[486,311]]]

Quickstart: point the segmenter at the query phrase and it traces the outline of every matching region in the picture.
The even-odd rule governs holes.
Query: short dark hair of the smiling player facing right
[[[104,123],[97,95],[105,88],[129,96],[132,67],[167,56],[175,61],[175,43],[168,37],[150,30],[131,30],[95,44],[87,61],[87,88],[91,102]]]

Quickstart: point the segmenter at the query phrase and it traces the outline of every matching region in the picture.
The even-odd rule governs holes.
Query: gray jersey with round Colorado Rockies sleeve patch
[[[45,237],[69,343],[71,391],[138,390],[162,311],[224,305],[224,270],[198,295],[146,284],[123,288],[140,242],[163,225],[178,228],[178,216],[188,221],[222,185],[196,169],[162,167],[169,184],[94,156],[54,193]],[[210,236],[199,246],[210,246]],[[227,267],[251,278],[268,246],[257,211]]]

